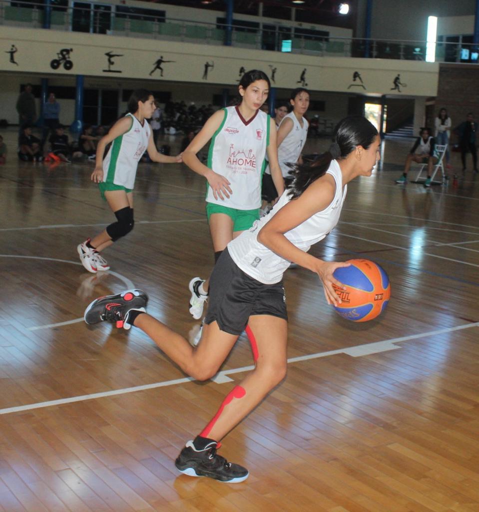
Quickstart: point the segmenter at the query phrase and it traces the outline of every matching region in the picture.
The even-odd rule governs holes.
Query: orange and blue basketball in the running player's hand
[[[353,322],[367,322],[380,315],[391,297],[391,283],[384,269],[370,260],[349,260],[349,267],[337,268],[333,275],[346,289],[333,285],[341,298],[334,309]]]

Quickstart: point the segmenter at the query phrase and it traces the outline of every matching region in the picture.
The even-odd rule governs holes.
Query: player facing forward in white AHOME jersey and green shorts
[[[284,190],[275,121],[260,110],[269,88],[269,78],[262,71],[244,73],[238,86],[241,102],[215,112],[183,153],[188,167],[208,182],[206,211],[215,263],[226,245],[259,219],[266,153],[273,182],[280,194]],[[204,165],[196,154],[210,139]],[[209,279],[193,278],[189,288],[190,313],[199,319],[208,298]]]

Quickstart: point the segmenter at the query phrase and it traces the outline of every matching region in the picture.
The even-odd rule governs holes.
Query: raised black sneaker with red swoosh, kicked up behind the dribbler
[[[83,318],[87,324],[111,322],[118,328],[130,329],[128,313],[132,310],[145,312],[148,295],[142,290],[126,290],[117,295],[96,298],[86,309]]]

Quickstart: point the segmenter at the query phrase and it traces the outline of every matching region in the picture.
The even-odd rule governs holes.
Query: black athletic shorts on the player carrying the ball
[[[240,335],[251,315],[271,315],[288,320],[283,282],[265,285],[251,278],[236,265],[226,248],[211,274],[204,323],[216,321],[222,331]]]

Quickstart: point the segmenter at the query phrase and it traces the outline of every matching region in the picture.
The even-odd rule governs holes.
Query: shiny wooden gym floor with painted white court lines
[[[173,461],[250,371],[246,338],[198,383],[138,329],[82,321],[93,298],[134,286],[188,334],[188,282],[213,261],[203,180],[141,164],[135,229],[105,251],[110,272],[89,274],[76,246],[113,221],[93,164],[18,162],[16,130],[3,135],[0,511],[479,511],[472,170],[447,187],[395,185],[411,141],[386,141],[382,169],[350,184],[341,221],[312,252],[377,261],[389,307],[347,322],[315,275],[286,272],[288,375],[225,438],[220,453],[250,477],[224,485],[178,476]],[[308,140],[306,152],[327,144]],[[458,154],[452,163],[460,171]]]

